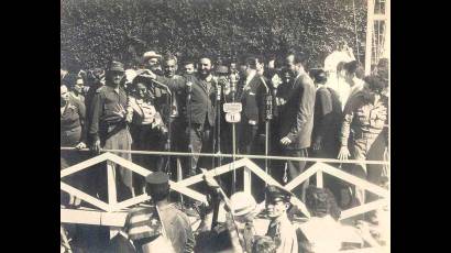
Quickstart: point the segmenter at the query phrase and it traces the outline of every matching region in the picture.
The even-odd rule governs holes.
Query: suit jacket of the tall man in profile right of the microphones
[[[286,148],[306,148],[311,144],[316,89],[307,74],[277,89],[284,105],[279,111],[279,138],[287,136],[292,143]]]

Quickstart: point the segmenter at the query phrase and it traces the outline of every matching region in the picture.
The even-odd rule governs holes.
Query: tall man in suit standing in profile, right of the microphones
[[[279,86],[277,97],[282,101],[279,111],[279,144],[283,155],[307,157],[310,147],[311,131],[314,128],[315,85],[304,69],[305,56],[289,53],[285,58],[286,68],[292,72],[294,79]],[[293,180],[304,172],[306,162],[287,162],[288,178]],[[301,199],[305,199],[302,184]]]

